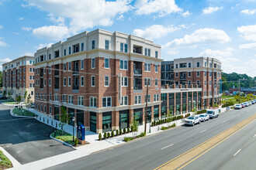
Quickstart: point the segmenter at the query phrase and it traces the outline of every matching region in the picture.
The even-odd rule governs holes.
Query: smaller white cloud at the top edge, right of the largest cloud
[[[135,4],[137,15],[150,15],[152,13],[159,13],[159,16],[168,15],[171,13],[182,12],[182,8],[179,8],[175,4],[175,0],[138,0]]]

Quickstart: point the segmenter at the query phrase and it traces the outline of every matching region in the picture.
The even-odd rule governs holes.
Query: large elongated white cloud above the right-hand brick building
[[[171,46],[198,46],[206,44],[222,44],[230,42],[230,37],[221,29],[197,29],[190,35],[185,35],[182,39],[174,39],[163,47]]]

